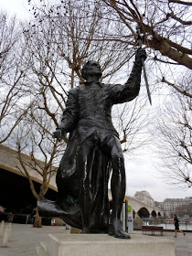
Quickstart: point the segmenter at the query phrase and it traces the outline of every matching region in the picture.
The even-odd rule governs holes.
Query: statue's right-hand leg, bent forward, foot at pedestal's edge
[[[108,233],[116,238],[128,239],[130,236],[123,230],[121,212],[125,195],[126,177],[123,151],[116,136],[108,136],[104,144],[104,154],[111,155],[112,159],[112,217]]]

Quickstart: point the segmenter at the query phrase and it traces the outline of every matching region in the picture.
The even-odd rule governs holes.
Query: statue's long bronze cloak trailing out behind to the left
[[[79,136],[74,130],[70,133],[69,143],[60,161],[56,183],[59,190],[57,201],[42,198],[37,203],[42,217],[58,217],[69,226],[81,229],[79,205],[80,179],[76,165]],[[107,232],[110,216],[108,182],[112,169],[111,161],[97,149],[91,172],[91,232]]]

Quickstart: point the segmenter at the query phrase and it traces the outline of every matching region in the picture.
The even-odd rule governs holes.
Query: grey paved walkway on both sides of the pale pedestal
[[[0,247],[0,256],[36,256],[35,247],[40,241],[48,240],[49,233],[67,234],[69,229],[65,226],[44,226],[41,229],[35,229],[30,224],[12,224],[8,246]],[[133,233],[142,232],[133,231]],[[185,237],[183,234],[178,234],[177,238],[174,238],[174,232],[164,232],[163,238],[176,241],[176,256],[192,256],[192,232],[188,232]],[[0,246],[2,241],[3,238],[0,238]]]

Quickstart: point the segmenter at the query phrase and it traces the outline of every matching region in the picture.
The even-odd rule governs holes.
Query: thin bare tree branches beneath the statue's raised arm
[[[149,143],[147,129],[154,112],[146,108],[146,98],[139,96],[132,104],[125,103],[113,110],[113,123],[120,134],[123,152],[137,154],[139,148]]]

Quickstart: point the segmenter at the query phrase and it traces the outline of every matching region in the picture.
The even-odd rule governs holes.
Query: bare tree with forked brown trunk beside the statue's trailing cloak
[[[45,129],[51,130],[52,128],[49,120],[43,117],[38,110],[34,112],[33,109],[32,111],[33,114],[29,112],[26,119],[19,123],[17,131],[13,133],[15,135],[13,141],[15,141],[21,165],[19,170],[23,176],[27,177],[31,192],[39,201],[48,192],[51,178],[56,176],[57,157],[60,153],[58,143],[54,142],[49,133],[45,132]],[[36,115],[36,119],[34,119],[34,115]],[[36,120],[41,121],[41,125]],[[30,161],[26,155],[30,155]],[[39,189],[35,186],[32,176],[41,180]],[[38,211],[33,226],[41,227]]]

